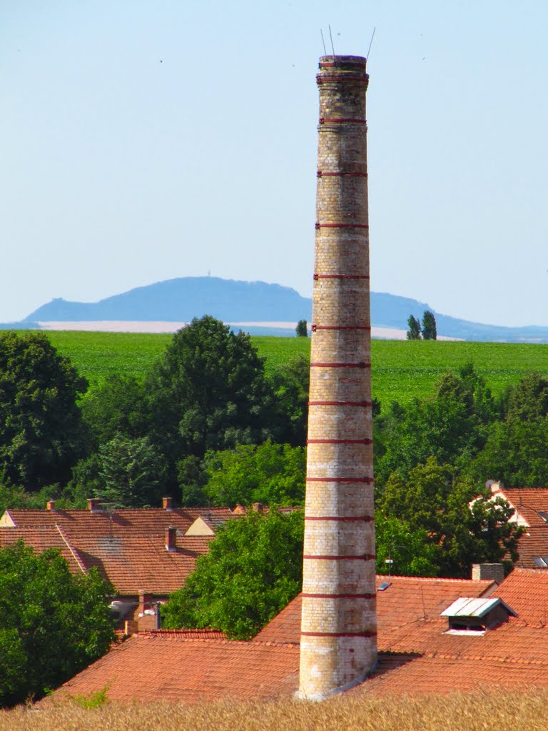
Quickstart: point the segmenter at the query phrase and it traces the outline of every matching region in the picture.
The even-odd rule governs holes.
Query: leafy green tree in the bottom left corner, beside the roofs
[[[0,549],[0,705],[42,696],[107,651],[111,591],[95,569],[73,577],[57,550]]]

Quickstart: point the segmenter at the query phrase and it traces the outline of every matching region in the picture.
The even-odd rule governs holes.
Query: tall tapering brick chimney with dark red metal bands
[[[376,665],[365,58],[323,56],[316,194],[300,689]]]

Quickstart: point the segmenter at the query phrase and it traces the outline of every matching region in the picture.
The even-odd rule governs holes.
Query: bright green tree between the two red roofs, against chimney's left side
[[[248,513],[218,531],[207,556],[161,609],[165,627],[213,627],[246,640],[302,584],[301,512]]]

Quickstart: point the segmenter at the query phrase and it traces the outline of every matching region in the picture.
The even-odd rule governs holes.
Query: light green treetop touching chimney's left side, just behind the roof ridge
[[[204,492],[213,505],[300,505],[305,499],[303,447],[240,444],[235,450],[208,452],[204,469]]]

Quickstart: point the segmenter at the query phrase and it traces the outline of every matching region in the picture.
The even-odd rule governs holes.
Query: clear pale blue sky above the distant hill
[[[548,325],[544,0],[0,0],[0,322],[208,272],[311,295],[328,24],[376,26],[372,289]]]

